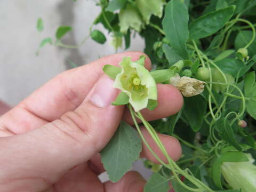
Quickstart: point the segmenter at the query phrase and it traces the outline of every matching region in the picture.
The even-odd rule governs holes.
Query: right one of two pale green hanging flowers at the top
[[[136,5],[146,24],[149,24],[151,15],[161,18],[165,0],[136,0]]]

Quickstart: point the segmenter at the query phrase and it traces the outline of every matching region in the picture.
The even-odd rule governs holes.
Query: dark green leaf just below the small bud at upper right
[[[227,58],[215,62],[215,64],[222,70],[223,73],[229,74],[233,77],[237,76],[239,69],[244,67],[244,63],[238,59]]]

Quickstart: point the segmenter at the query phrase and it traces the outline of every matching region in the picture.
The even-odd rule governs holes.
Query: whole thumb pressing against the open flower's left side
[[[53,183],[98,153],[115,133],[123,114],[124,106],[111,106],[118,94],[113,83],[102,76],[75,111],[26,134],[0,139],[0,162],[6,164],[1,163],[0,178],[19,175]]]

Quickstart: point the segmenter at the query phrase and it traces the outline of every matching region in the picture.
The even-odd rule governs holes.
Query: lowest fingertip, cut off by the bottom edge
[[[115,183],[107,181],[105,183],[105,190],[106,192],[142,192],[145,184],[146,180],[138,172],[129,171],[121,180]]]

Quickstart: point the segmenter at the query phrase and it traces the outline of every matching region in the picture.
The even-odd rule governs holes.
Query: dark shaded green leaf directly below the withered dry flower
[[[183,113],[186,116],[191,129],[197,132],[201,129],[204,114],[206,113],[206,101],[201,95],[185,98]]]

